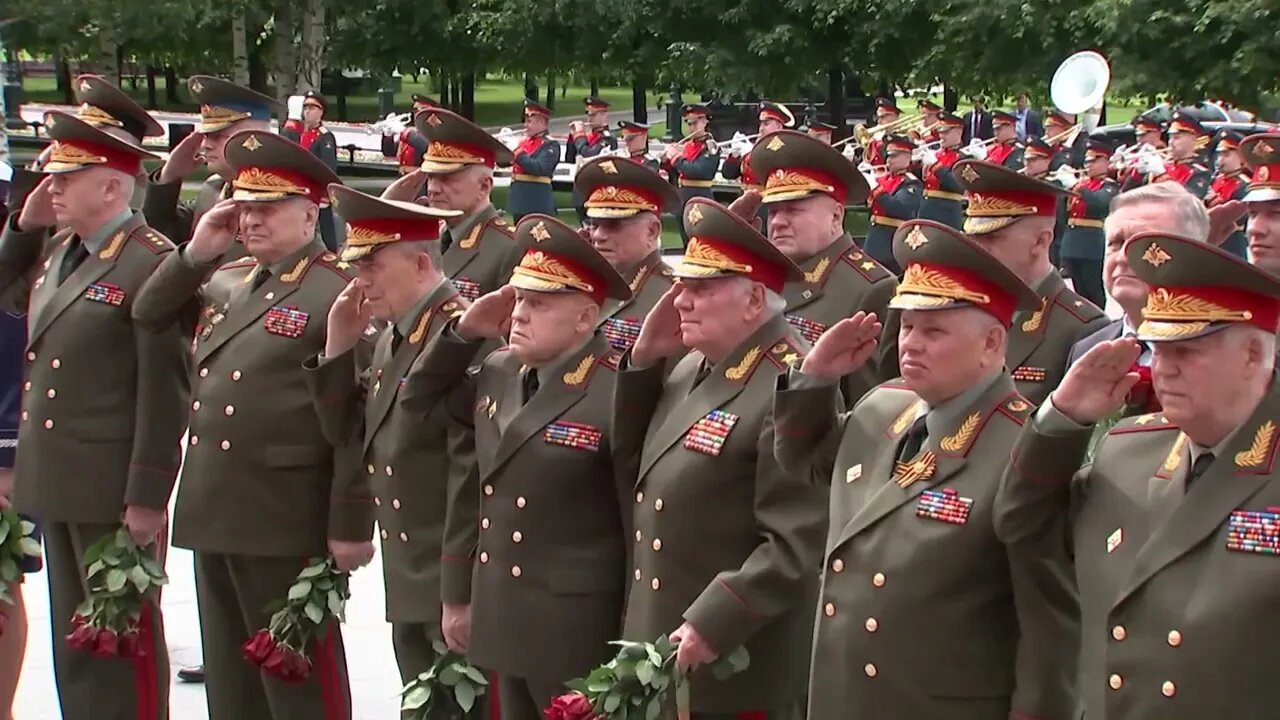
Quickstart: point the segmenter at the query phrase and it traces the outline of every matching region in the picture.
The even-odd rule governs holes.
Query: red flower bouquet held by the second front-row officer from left
[[[311,675],[311,642],[330,621],[346,621],[351,598],[348,575],[333,557],[315,557],[276,603],[266,628],[253,633],[241,651],[244,660],[285,683],[301,683]]]

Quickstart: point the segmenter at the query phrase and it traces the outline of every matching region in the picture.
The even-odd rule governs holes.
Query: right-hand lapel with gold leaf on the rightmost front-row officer
[[[1152,577],[1213,534],[1231,510],[1271,479],[1280,439],[1280,392],[1272,384],[1257,410],[1231,438],[1222,455],[1192,484],[1178,509],[1155,528],[1134,559],[1133,571],[1114,607]],[[1183,460],[1187,462],[1187,460]]]

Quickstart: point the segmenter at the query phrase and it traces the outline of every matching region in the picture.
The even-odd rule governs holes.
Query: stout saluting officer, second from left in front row
[[[143,287],[134,320],[196,325],[188,447],[173,543],[195,551],[210,720],[351,717],[338,624],[289,685],[242,657],[307,559],[351,571],[374,553],[372,503],[355,492],[358,439],[324,433],[302,363],[325,347],[325,318],[351,277],[316,238],[338,182],[320,160],[266,131],[228,138],[230,200],[201,218]],[[239,233],[250,256],[215,266]],[[255,509],[247,512],[246,507]]]

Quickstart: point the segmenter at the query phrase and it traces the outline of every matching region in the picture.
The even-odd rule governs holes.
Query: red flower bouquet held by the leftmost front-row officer
[[[88,598],[72,616],[74,629],[67,644],[100,657],[143,657],[142,615],[156,602],[161,585],[169,583],[160,562],[133,542],[120,528],[84,551]]]

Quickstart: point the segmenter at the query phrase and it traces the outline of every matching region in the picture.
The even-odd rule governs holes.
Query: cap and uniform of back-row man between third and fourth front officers
[[[422,170],[445,176],[472,165],[507,167],[511,150],[466,118],[444,109],[424,110],[415,119],[419,132],[431,143],[422,158]],[[474,301],[507,284],[511,269],[520,260],[515,229],[493,204],[444,233],[444,274],[462,297]]]

